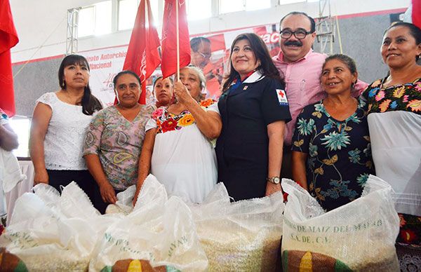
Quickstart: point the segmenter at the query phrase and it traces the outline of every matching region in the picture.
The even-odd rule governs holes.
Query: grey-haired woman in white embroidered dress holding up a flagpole
[[[218,172],[210,140],[220,135],[222,121],[214,100],[200,101],[204,86],[200,69],[180,69],[180,81],[174,83],[177,102],[156,109],[147,122],[133,204],[149,172],[168,195],[192,203],[203,202],[213,189]]]

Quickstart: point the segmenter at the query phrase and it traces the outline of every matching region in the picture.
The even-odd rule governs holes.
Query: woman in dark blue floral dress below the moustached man
[[[305,107],[293,136],[293,178],[326,211],[359,198],[373,174],[364,102],[351,90],[357,80],[347,55],[326,58],[321,84],[326,99]]]

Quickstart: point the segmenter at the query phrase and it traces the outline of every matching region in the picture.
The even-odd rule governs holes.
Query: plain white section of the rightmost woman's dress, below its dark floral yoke
[[[421,216],[421,115],[373,113],[368,128],[376,175],[392,185],[396,211]]]

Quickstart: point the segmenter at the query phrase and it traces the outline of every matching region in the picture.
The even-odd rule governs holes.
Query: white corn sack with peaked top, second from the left
[[[107,271],[128,259],[183,272],[208,267],[192,212],[180,198],[168,199],[165,187],[153,175],[145,179],[133,212],[107,228],[93,255],[89,271]]]

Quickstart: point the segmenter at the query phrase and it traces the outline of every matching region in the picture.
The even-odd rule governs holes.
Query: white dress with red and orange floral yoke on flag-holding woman
[[[213,103],[206,100],[201,106],[218,111],[210,106]],[[163,107],[157,109],[145,130],[152,128],[157,128],[152,175],[165,186],[168,196],[179,196],[186,202],[203,202],[218,176],[213,144],[201,133],[187,110],[175,115]]]

